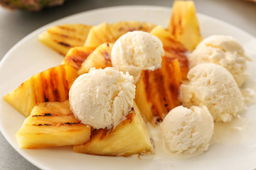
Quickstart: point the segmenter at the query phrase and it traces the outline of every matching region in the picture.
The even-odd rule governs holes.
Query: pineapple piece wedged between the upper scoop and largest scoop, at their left
[[[95,67],[96,69],[104,69],[105,67],[112,67],[110,55],[112,50],[112,43],[103,43],[97,47],[82,63],[78,74],[84,74],[89,72],[90,68]]]

